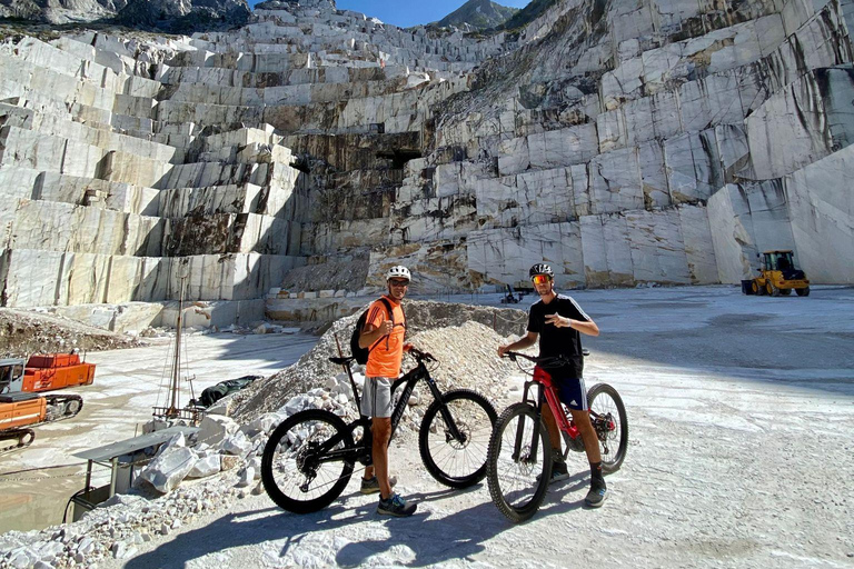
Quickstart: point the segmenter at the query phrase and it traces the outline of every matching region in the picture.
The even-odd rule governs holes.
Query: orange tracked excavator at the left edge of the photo
[[[75,417],[83,399],[75,395],[39,395],[42,391],[89,386],[95,365],[77,353],[47,353],[29,360],[0,360],[0,455],[29,447],[33,427]]]

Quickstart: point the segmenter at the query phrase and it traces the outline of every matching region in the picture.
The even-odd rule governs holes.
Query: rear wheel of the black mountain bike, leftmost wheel
[[[329,506],[350,481],[351,462],[324,462],[312,467],[311,449],[340,433],[336,448],[354,446],[347,425],[338,416],[308,409],[286,419],[272,431],[261,456],[261,481],[277,506],[294,513],[309,513]],[[300,465],[299,461],[302,461]],[[308,480],[307,475],[311,476]],[[304,490],[301,485],[307,483]]]

